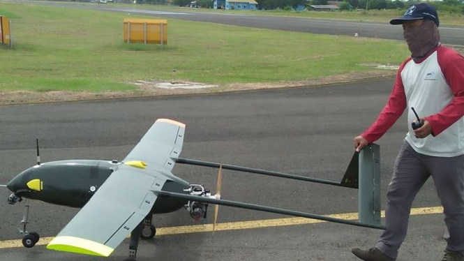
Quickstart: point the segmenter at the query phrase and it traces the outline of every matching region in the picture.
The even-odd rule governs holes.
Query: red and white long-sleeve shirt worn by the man
[[[414,136],[411,123],[419,117],[431,124],[432,135]],[[393,91],[379,117],[361,136],[368,142],[380,139],[407,109],[406,140],[428,156],[452,157],[464,154],[464,57],[438,45],[420,61],[411,58],[401,64]]]

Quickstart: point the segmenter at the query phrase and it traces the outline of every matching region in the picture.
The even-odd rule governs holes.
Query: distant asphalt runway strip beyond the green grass
[[[11,1],[2,0],[0,3],[1,2]],[[345,36],[354,36],[354,33],[358,33],[361,37],[403,40],[403,29],[400,26],[381,24],[378,22],[347,22],[340,20],[318,20],[301,17],[240,15],[239,12],[237,12],[237,14],[201,12],[193,13],[192,9],[190,8],[185,8],[185,12],[173,13],[160,10],[145,10],[142,8],[118,8],[112,6],[111,3],[108,3],[107,5],[98,5],[96,3],[63,3],[52,1],[15,0],[14,2],[58,6],[64,8],[105,10],[112,12],[130,13],[132,15],[149,15],[154,17],[191,20],[197,22],[214,22],[218,24],[231,24],[241,27],[256,27],[262,29],[276,29],[305,33],[324,33]],[[444,44],[464,45],[464,27],[442,26],[440,27],[440,36],[441,41]]]

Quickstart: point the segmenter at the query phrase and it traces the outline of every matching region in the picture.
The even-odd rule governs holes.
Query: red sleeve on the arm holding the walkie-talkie
[[[439,135],[464,116],[464,57],[451,48],[441,47],[437,51],[437,58],[454,99],[441,112],[426,117],[433,136]]]

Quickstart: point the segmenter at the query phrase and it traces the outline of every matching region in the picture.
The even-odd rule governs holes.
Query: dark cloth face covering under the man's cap
[[[405,29],[403,36],[413,59],[426,56],[440,42],[437,24],[431,20],[424,20],[424,24],[419,27]]]

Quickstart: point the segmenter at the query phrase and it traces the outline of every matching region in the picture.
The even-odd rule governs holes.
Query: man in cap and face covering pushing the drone
[[[380,139],[407,110],[403,147],[387,191],[385,230],[375,248],[352,253],[366,261],[394,261],[403,243],[414,197],[432,176],[449,231],[442,261],[464,261],[464,58],[440,44],[437,11],[426,3],[401,18],[411,57],[401,64],[394,89],[375,123],[354,138],[360,151]],[[423,126],[412,129],[417,111]],[[414,122],[419,124],[419,122]]]

